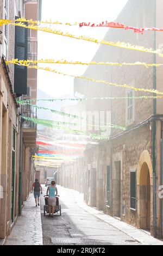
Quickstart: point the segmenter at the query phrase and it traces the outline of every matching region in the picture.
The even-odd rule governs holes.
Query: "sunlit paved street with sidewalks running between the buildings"
[[[58,192],[61,216],[43,216],[43,196],[40,210],[30,194],[5,245],[163,245],[145,231],[90,208],[82,194],[60,186]]]

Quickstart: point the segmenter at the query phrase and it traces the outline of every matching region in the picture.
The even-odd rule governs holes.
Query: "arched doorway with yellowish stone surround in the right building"
[[[137,170],[139,228],[151,231],[152,220],[152,162],[148,151],[143,151]]]

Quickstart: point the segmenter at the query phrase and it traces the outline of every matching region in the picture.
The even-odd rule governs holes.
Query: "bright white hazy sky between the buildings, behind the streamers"
[[[114,21],[127,0],[42,0],[42,20],[60,22],[101,22]],[[57,26],[51,28],[60,29],[74,35],[92,36],[99,40],[103,39],[107,28],[89,28],[78,26]],[[78,60],[90,62],[99,45],[65,36],[39,32],[38,58],[53,58]],[[100,61],[100,60],[99,60]],[[53,69],[71,75],[82,75],[86,66],[79,65],[49,65]],[[38,72],[38,88],[52,97],[63,95],[73,96],[73,78],[55,75],[47,71]]]

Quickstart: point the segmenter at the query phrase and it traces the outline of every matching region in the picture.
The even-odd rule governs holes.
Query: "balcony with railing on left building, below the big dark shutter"
[[[34,111],[34,107],[30,105],[24,106],[23,111],[24,117],[36,118],[36,111]],[[23,141],[24,145],[27,148],[35,148],[36,147],[36,129],[37,125],[33,123],[33,121],[24,120],[23,122]]]

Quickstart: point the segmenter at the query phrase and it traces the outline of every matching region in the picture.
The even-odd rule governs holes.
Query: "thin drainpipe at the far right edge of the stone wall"
[[[160,139],[160,186],[162,186],[162,132],[163,123],[161,120],[161,139]],[[160,239],[162,238],[162,198],[160,198]]]

